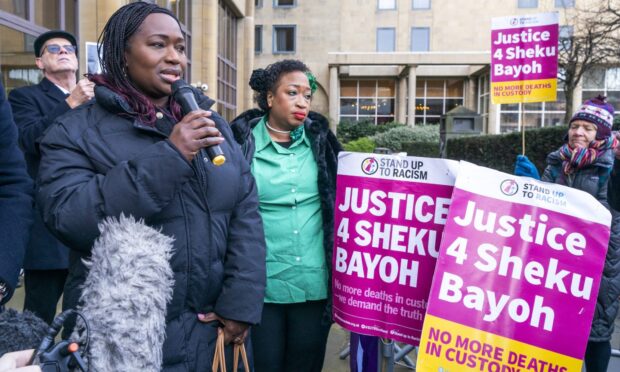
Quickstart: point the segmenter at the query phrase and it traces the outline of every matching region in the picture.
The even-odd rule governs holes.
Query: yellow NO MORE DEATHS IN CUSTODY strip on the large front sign
[[[417,371],[580,372],[582,361],[426,314]]]

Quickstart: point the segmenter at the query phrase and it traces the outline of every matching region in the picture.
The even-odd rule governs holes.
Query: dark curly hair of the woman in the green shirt
[[[315,78],[312,73],[310,73],[308,66],[299,60],[285,59],[272,63],[264,69],[257,68],[252,71],[252,76],[250,77],[250,88],[254,90],[254,101],[258,104],[258,107],[260,107],[261,110],[266,113],[270,111],[269,105],[267,104],[268,93],[271,92],[272,94],[275,94],[280,77],[284,74],[295,71],[301,71],[308,76],[312,93],[314,93],[316,90]]]

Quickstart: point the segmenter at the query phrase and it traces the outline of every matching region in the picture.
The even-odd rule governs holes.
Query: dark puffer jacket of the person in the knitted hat
[[[609,173],[613,165],[613,152],[607,151],[604,156],[573,175],[566,176],[562,172],[560,152],[554,151],[547,156],[547,167],[542,176],[546,182],[559,183],[594,196],[605,208],[610,209],[607,202],[607,186]],[[590,341],[608,341],[614,330],[614,322],[620,303],[620,213],[610,209],[611,235],[605,257],[605,266],[601,278],[596,310],[590,330]]]

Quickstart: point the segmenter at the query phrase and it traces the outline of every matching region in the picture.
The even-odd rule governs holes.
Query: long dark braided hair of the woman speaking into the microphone
[[[103,72],[88,76],[95,84],[103,85],[120,95],[134,111],[134,115],[129,116],[137,116],[144,124],[151,126],[156,120],[155,105],[132,84],[127,75],[125,50],[129,39],[140,29],[146,17],[154,13],[167,14],[179,23],[170,10],[142,1],[127,4],[114,12],[98,40],[97,53],[101,56]],[[170,111],[176,120],[183,117],[180,106],[173,100],[170,102]]]

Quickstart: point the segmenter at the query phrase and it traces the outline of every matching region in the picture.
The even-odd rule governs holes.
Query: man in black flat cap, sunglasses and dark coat
[[[37,142],[43,132],[56,118],[93,97],[93,83],[87,79],[76,81],[76,45],[75,37],[65,31],[41,34],[34,41],[34,52],[43,80],[9,93],[19,129],[19,144],[26,154],[28,173],[34,180],[41,160]],[[30,310],[51,323],[68,267],[69,250],[50,234],[40,215],[35,213],[24,259],[24,310]]]

